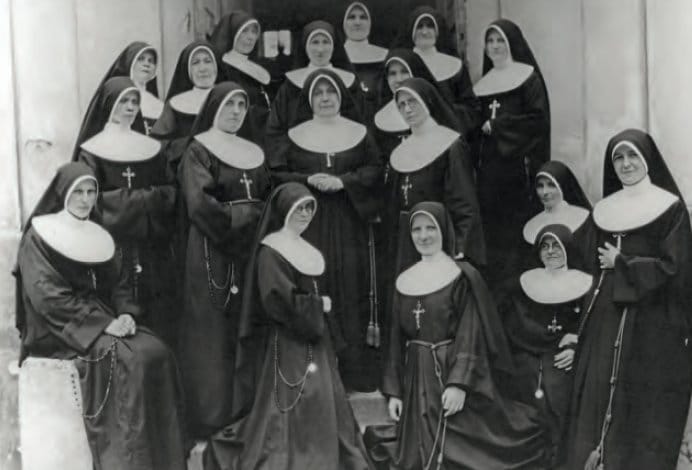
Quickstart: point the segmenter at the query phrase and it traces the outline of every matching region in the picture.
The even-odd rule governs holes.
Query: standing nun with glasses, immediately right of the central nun
[[[450,212],[456,233],[456,258],[485,264],[485,243],[473,181],[473,166],[457,120],[434,85],[410,78],[394,93],[411,136],[389,157],[391,193],[385,223],[391,227],[395,269],[408,266],[399,250],[406,240],[409,211],[421,201],[437,201]],[[400,223],[403,222],[403,223]],[[405,241],[404,241],[405,243]]]

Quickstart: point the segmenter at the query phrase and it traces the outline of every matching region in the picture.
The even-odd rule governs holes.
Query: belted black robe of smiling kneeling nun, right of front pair
[[[462,273],[437,291],[422,296],[396,293],[382,392],[400,398],[403,409],[396,440],[391,427],[366,431],[368,442],[379,441],[370,449],[373,460],[389,461],[401,470],[421,470],[433,451],[437,458],[439,441],[437,449],[433,442],[442,393],[447,386],[456,386],[466,391],[466,402],[462,411],[447,418],[443,468],[543,468],[536,411],[499,389],[507,376],[493,367],[491,351],[498,345],[490,344],[489,338],[503,341],[504,335],[487,331],[491,326],[501,328],[487,287],[468,263],[459,266]],[[412,314],[418,302],[425,309],[420,330]],[[411,340],[452,342],[433,350]]]

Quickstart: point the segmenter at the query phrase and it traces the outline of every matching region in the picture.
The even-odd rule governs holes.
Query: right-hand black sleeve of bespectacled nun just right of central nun
[[[454,221],[457,252],[464,253],[476,264],[485,264],[485,241],[469,153],[462,140],[450,147],[444,175],[444,202]]]

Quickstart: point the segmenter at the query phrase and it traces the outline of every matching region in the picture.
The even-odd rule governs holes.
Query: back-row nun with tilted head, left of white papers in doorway
[[[249,123],[257,136],[264,134],[273,93],[271,74],[258,61],[257,41],[262,29],[257,18],[242,10],[224,16],[216,25],[209,40],[223,54],[223,80],[239,84],[248,94]]]

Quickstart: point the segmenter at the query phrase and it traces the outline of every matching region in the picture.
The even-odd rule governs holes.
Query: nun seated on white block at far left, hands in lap
[[[140,325],[131,272],[92,220],[98,192],[91,168],[63,165],[25,225],[14,272],[20,361],[74,361],[95,469],[184,470],[175,361]]]

